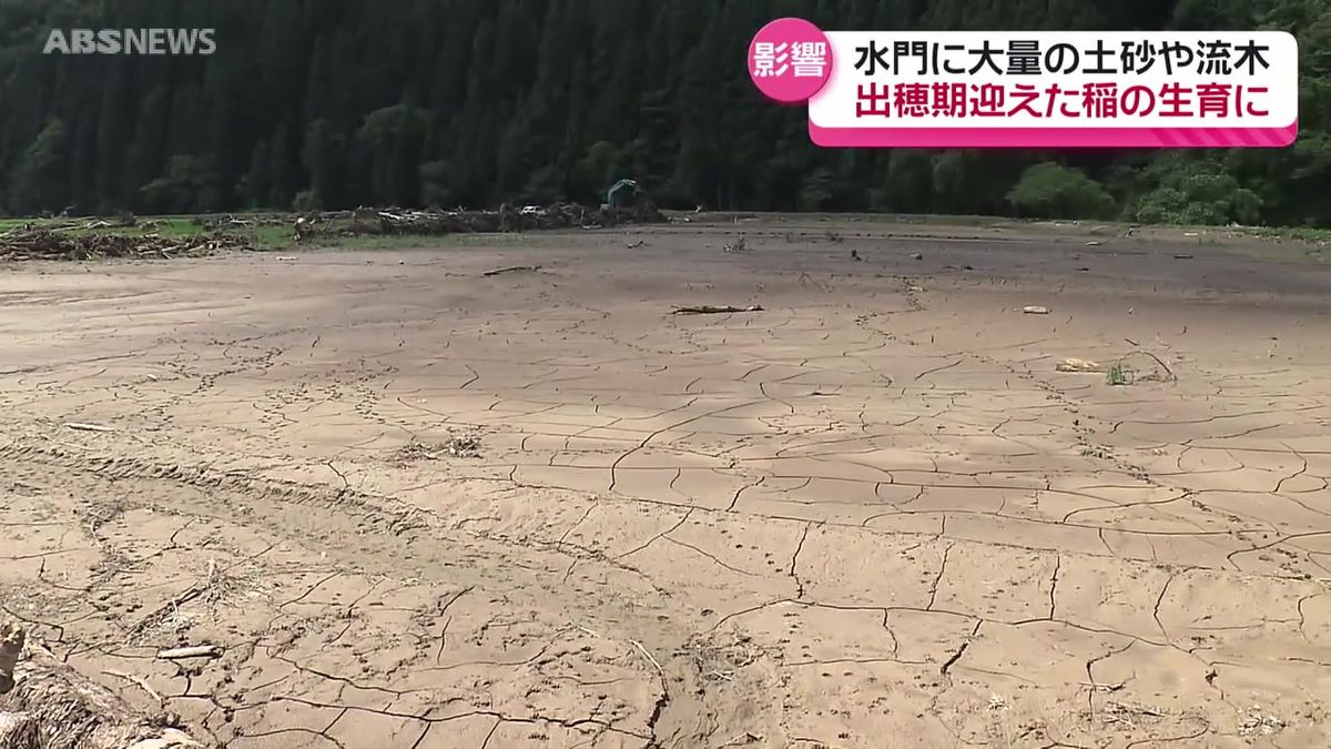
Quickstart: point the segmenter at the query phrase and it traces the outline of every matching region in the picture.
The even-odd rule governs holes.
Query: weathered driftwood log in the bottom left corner
[[[0,749],[204,746],[24,640],[0,625]]]

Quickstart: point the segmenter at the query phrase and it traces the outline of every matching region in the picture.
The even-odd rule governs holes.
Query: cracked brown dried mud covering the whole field
[[[1331,269],[827,227],[8,267],[0,613],[234,748],[1327,746]]]

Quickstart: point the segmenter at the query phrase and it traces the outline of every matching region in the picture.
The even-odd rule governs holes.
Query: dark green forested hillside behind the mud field
[[[824,151],[748,81],[823,28],[1279,28],[1295,147]],[[51,28],[213,27],[212,56],[41,55]],[[0,0],[0,208],[595,201],[1331,225],[1331,0]],[[1050,164],[1054,163],[1054,164]],[[1089,179],[1087,179],[1089,177]]]

